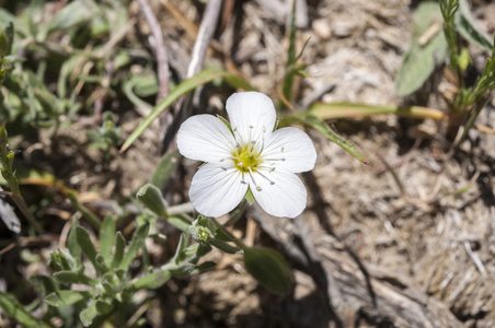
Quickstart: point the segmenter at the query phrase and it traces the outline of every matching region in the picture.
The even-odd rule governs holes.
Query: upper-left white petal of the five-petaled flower
[[[232,132],[212,115],[189,117],[177,132],[179,152],[196,161],[219,162],[231,155],[234,145]]]

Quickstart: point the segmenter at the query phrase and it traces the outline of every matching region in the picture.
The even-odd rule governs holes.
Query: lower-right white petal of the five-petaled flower
[[[250,178],[250,188],[254,199],[274,216],[296,218],[306,208],[307,191],[299,177],[287,169],[270,173],[254,173]],[[256,188],[258,186],[260,188]]]

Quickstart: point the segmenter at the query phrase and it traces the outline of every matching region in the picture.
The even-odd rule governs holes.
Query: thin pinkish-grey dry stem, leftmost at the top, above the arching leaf
[[[151,34],[154,38],[154,56],[157,57],[157,67],[158,67],[158,80],[160,83],[160,91],[157,96],[157,104],[164,98],[169,94],[169,57],[166,55],[165,45],[163,43],[163,34],[158,23],[157,17],[153,14],[153,11],[148,3],[148,0],[138,0],[141,5],[142,13],[148,22],[148,25],[151,28]],[[165,114],[166,115],[166,114]]]

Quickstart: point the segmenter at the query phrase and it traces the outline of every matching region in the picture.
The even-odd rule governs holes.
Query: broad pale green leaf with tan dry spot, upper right
[[[422,2],[414,13],[413,39],[404,55],[396,77],[399,96],[412,94],[431,75],[436,62],[447,56],[447,40],[442,33],[442,15],[436,2]]]

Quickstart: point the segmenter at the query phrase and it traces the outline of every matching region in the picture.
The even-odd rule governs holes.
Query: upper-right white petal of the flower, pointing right
[[[276,160],[276,169],[283,167],[293,173],[310,171],[316,162],[313,142],[296,128],[281,128],[273,132],[262,155],[268,162]]]

